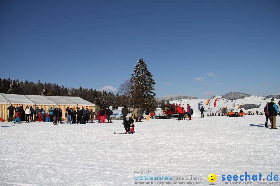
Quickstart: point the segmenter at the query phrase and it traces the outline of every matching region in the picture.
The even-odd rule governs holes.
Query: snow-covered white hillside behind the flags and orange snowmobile
[[[216,98],[219,98],[218,101],[216,102],[216,107],[214,107],[214,101]],[[264,100],[265,99],[265,100]],[[203,108],[205,109],[205,114],[207,112],[209,113],[209,108],[210,108],[210,113],[217,113],[220,111],[221,108],[227,106],[228,110],[233,110],[236,112],[239,112],[240,109],[237,109],[238,105],[244,105],[244,104],[256,104],[260,105],[259,108],[252,108],[252,109],[247,109],[245,110],[244,108],[243,111],[248,114],[248,111],[256,113],[258,110],[259,112],[264,111],[264,106],[266,105],[267,102],[270,102],[271,98],[266,99],[265,96],[255,96],[251,95],[250,97],[245,97],[243,99],[236,99],[236,100],[227,100],[225,98],[222,98],[222,96],[216,96],[212,99],[210,99],[210,102],[208,105],[206,104],[207,99],[178,99],[178,100],[169,100],[170,103],[175,103],[175,104],[181,104],[184,108],[187,108],[187,104],[190,104],[191,108],[194,110],[194,115],[193,117],[200,117],[200,112],[198,110],[198,103],[201,103]],[[279,99],[275,99],[275,103],[278,105]]]

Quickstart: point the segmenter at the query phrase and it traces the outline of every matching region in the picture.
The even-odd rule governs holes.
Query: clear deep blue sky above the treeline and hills
[[[2,0],[0,24],[0,78],[110,91],[142,58],[156,97],[280,92],[278,0]]]

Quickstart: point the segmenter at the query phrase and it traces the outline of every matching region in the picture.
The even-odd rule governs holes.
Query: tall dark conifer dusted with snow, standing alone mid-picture
[[[131,74],[132,95],[134,105],[139,105],[141,108],[155,109],[156,106],[156,94],[154,85],[156,82],[153,80],[153,75],[148,70],[147,64],[141,58],[135,65],[135,70]]]

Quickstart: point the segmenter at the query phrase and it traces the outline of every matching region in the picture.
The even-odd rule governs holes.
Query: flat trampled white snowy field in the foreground
[[[265,116],[205,117],[136,123],[133,135],[112,124],[0,122],[0,185],[136,185],[134,175],[280,175],[277,130]],[[278,181],[280,184],[280,181]],[[157,184],[155,184],[157,185]]]

